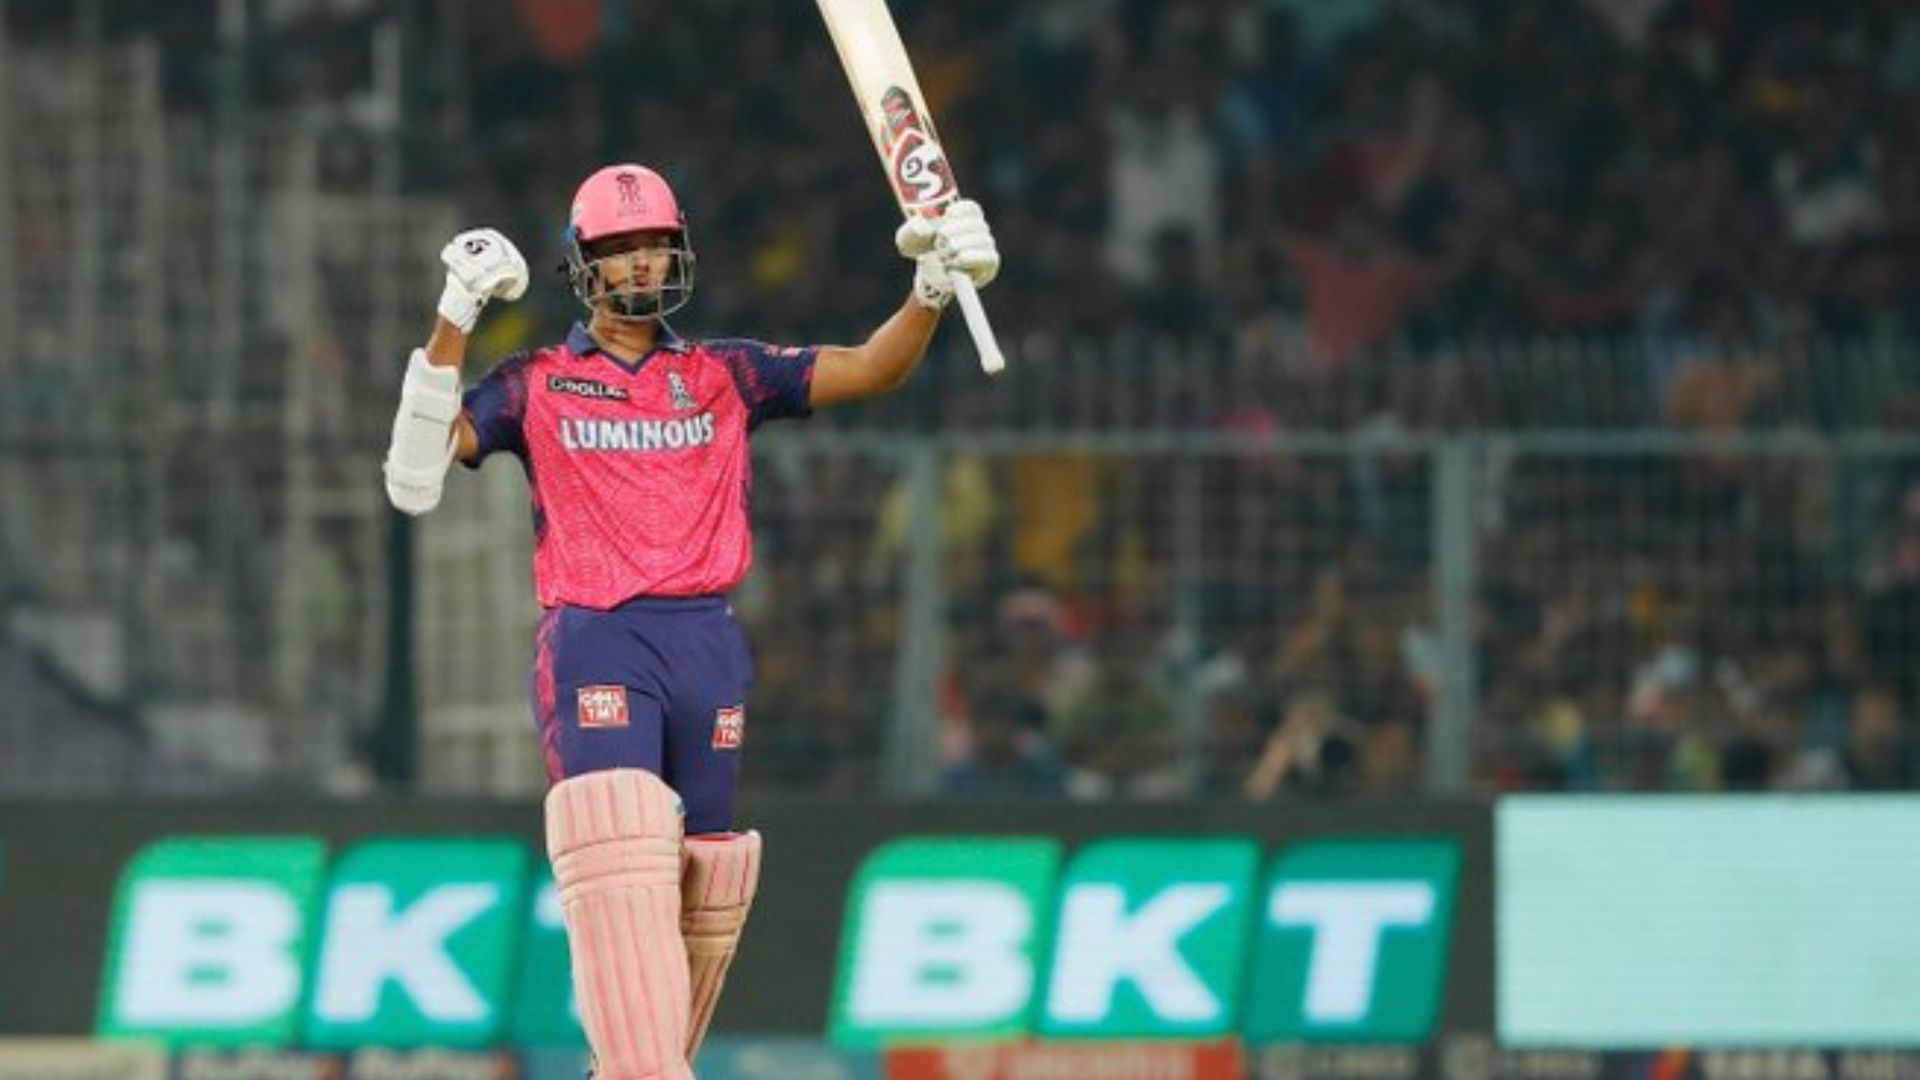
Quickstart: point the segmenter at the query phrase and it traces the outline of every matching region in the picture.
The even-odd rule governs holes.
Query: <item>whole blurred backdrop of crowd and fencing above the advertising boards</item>
[[[1920,6],[893,6],[1010,367],[947,331],[756,440],[751,805],[1916,784]],[[687,208],[682,332],[908,286],[812,4],[0,0],[10,821],[532,807],[524,479],[409,523],[378,459],[444,238],[555,267],[616,160]],[[468,377],[578,315],[536,275]]]

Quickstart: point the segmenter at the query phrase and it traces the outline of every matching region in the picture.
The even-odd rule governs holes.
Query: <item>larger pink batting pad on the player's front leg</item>
[[[547,792],[547,855],[597,1080],[693,1080],[680,938],[680,796],[607,769]]]

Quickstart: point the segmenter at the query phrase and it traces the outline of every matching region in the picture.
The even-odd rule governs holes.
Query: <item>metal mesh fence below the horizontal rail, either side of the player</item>
[[[756,469],[756,786],[1912,782],[1920,440],[791,432]],[[518,484],[424,527],[442,790],[538,784]]]

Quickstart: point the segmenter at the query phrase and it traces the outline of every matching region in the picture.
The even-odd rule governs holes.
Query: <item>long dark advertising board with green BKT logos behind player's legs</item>
[[[1492,1026],[1484,807],[743,813],[780,824],[720,1032],[872,1049]],[[566,1059],[584,1038],[538,821],[515,803],[0,805],[0,1038]],[[1327,890],[1357,890],[1363,917],[1325,911]]]

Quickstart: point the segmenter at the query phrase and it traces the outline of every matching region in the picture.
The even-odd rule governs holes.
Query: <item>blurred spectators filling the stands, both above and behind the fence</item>
[[[1010,379],[1033,382],[1016,405],[950,363],[906,405],[824,423],[1018,407],[1044,427],[1112,396],[1156,425],[1388,448],[1208,457],[1181,480],[1204,517],[1198,600],[1169,580],[1167,461],[948,461],[952,796],[1419,788],[1434,511],[1428,459],[1394,454],[1396,434],[1920,430],[1908,0],[893,6],[993,215],[989,304],[1033,357],[1016,348]],[[182,13],[196,4],[165,8],[177,40],[209,33]],[[405,10],[459,56],[409,81],[405,184],[453,194],[536,267],[561,259],[572,184],[639,160],[691,217],[685,329],[847,340],[904,296],[895,211],[812,6],[457,8],[267,4],[261,54],[307,44],[257,63],[257,92],[336,96],[349,127],[394,135],[351,108],[372,58],[348,29]],[[432,60],[434,33],[409,48]],[[217,85],[169,73],[182,108],[211,108]],[[482,352],[576,311],[536,288]],[[1048,377],[1068,354],[1092,363]],[[897,575],[876,571],[899,555],[899,484],[835,469],[756,494],[770,601],[747,605],[747,767],[862,792],[900,634]],[[1482,790],[1914,786],[1910,454],[1534,455],[1480,477]]]

